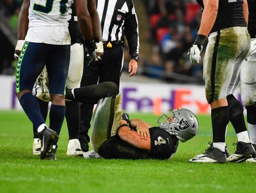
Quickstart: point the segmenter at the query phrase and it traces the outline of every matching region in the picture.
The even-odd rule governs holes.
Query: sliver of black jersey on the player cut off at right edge
[[[256,0],[247,0],[249,8],[248,31],[251,38],[256,38]]]

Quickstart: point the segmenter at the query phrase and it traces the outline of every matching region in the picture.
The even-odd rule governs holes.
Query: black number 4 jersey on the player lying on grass
[[[170,158],[177,150],[179,140],[174,135],[160,129],[150,128],[150,151],[139,149],[126,143],[118,135],[108,138],[98,149],[98,154],[104,158],[123,159],[159,159]]]

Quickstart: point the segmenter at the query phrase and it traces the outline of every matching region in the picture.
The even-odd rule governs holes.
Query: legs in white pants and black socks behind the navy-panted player
[[[82,68],[84,63],[84,48],[80,43],[75,43],[71,46],[71,58],[69,62],[69,71],[66,82],[67,88],[79,88],[82,78]],[[40,110],[42,114],[46,114],[48,101],[50,100],[49,91],[48,91],[48,76],[46,68],[39,75],[36,84],[35,84],[35,96],[40,101]],[[65,117],[67,120],[68,131],[69,131],[69,144],[68,144],[68,156],[81,156],[82,151],[80,143],[78,140],[79,135],[79,114],[80,114],[80,105],[77,101],[66,100],[66,113]],[[45,117],[45,119],[46,119]],[[77,118],[78,117],[78,118]],[[34,139],[34,141],[37,141]],[[39,140],[40,142],[40,140]],[[36,152],[38,143],[34,143],[33,149]],[[57,145],[57,144],[56,144]],[[57,147],[57,146],[56,146]],[[56,153],[56,151],[55,151]],[[35,153],[34,153],[35,154]],[[52,155],[56,158],[56,155]]]

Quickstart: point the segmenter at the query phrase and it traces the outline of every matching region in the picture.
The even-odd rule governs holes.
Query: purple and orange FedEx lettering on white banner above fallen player
[[[142,89],[143,91],[139,92],[139,89]],[[161,92],[155,91],[155,93],[154,91],[148,92],[146,91],[146,89],[144,90],[141,87],[123,87],[121,89],[121,92],[122,109],[124,110],[152,112],[155,110],[155,108],[159,108],[159,111],[166,111],[168,109],[177,108],[187,108],[198,114],[210,113],[210,105],[205,98],[205,91],[203,86],[196,89],[163,88]],[[164,96],[160,96],[160,94],[163,92],[165,92]],[[237,98],[241,101],[240,95],[238,95]]]

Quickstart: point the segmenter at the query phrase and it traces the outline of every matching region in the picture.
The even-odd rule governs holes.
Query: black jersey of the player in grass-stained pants
[[[204,10],[203,0],[196,0]],[[217,32],[224,28],[246,27],[243,16],[243,0],[219,0],[218,14],[213,25],[212,32]]]

